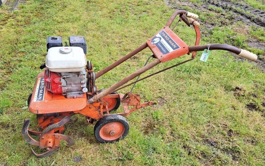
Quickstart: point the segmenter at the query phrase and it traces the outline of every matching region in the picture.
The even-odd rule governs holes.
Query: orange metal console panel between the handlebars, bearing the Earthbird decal
[[[161,62],[166,62],[189,52],[185,44],[168,26],[165,26],[147,41],[154,56]]]

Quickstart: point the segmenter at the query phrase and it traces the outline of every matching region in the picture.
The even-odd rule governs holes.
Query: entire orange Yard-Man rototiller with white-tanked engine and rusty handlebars
[[[184,21],[188,26],[193,25],[196,32],[195,46],[188,46],[173,32],[178,22],[170,29],[177,15],[179,15],[178,22]],[[189,17],[189,20],[187,17]],[[77,113],[85,115],[86,122],[89,124],[93,124],[94,121],[98,120],[94,126],[94,135],[99,142],[112,143],[124,138],[129,132],[129,125],[124,117],[140,108],[154,105],[155,103],[141,103],[140,95],[133,94],[132,91],[126,94],[117,93],[116,91],[132,84],[135,85],[136,82],[154,74],[191,61],[195,58],[196,51],[205,51],[205,57],[202,56],[202,60],[207,58],[207,53],[210,50],[227,50],[246,59],[257,60],[257,55],[231,45],[212,44],[199,46],[200,30],[198,27],[200,24],[196,21],[197,18],[198,16],[193,13],[183,10],[176,11],[170,17],[166,26],[146,43],[98,73],[93,71],[92,63],[86,61],[87,48],[83,36],[70,36],[70,46],[67,45],[67,42],[63,46],[61,37],[48,37],[46,63],[40,67],[44,71],[38,74],[33,93],[28,99],[29,111],[36,114],[38,127],[42,131],[29,130],[30,120],[24,121],[22,129],[23,138],[28,143],[39,146],[42,149],[46,148],[48,151],[36,154],[31,148],[33,153],[37,157],[53,154],[58,149],[61,140],[67,141],[69,146],[73,145],[74,141],[69,136],[63,135],[65,131],[64,124],[68,121],[74,122],[75,119],[71,116]],[[151,63],[148,63],[147,60],[145,66],[133,74],[107,89],[98,90],[95,85],[97,78],[147,47],[153,53],[148,60],[151,57],[155,58],[155,60]],[[189,55],[190,53],[192,53],[190,59],[139,79],[140,74],[159,63],[164,63],[185,54]],[[137,76],[136,81],[123,86]],[[111,113],[111,111],[117,110],[120,103],[124,112]],[[34,140],[30,135],[39,136],[39,141]]]

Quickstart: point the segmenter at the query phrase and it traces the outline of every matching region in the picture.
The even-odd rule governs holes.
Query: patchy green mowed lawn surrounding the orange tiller
[[[207,62],[199,60],[198,52],[195,60],[139,82],[134,93],[142,101],[159,103],[126,118],[130,132],[124,140],[100,144],[94,125],[75,115],[78,121],[67,124],[65,134],[76,144],[68,147],[62,141],[54,155],[36,158],[30,147],[37,153],[45,150],[23,140],[21,129],[24,119],[30,119],[30,129],[37,130],[27,98],[46,59],[46,37],[68,41],[70,35],[85,36],[87,60],[98,72],[146,42],[175,9],[155,0],[29,0],[14,13],[6,5],[0,10],[0,165],[265,165],[265,73],[227,51],[212,51]],[[206,18],[207,13],[191,10]],[[201,28],[207,29],[204,21]],[[201,44],[245,46],[248,36],[233,31],[242,24],[214,29]],[[174,31],[194,44],[192,27],[180,22]],[[97,87],[118,82],[150,55],[145,49],[97,79]],[[189,58],[159,64],[142,77]],[[77,157],[81,162],[73,160]]]

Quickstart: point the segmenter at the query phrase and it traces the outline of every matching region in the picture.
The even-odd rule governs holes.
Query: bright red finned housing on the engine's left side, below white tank
[[[55,94],[63,93],[61,76],[51,72],[48,68],[46,68],[44,71],[44,82],[48,91]]]

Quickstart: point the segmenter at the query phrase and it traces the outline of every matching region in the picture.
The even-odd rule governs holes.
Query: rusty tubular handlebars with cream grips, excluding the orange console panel
[[[189,12],[186,12],[184,10],[177,10],[171,15],[171,17],[169,18],[169,21],[166,23],[166,26],[170,27],[171,24],[173,23],[173,21],[175,20],[177,15],[180,15],[179,21],[184,21],[188,26],[190,26],[189,22],[191,22],[194,25],[194,28],[195,28],[195,31],[196,31],[196,35],[197,35],[196,44],[195,44],[196,46],[189,46],[188,47],[189,52],[193,52],[192,58],[190,59],[190,60],[192,60],[192,59],[195,58],[196,51],[203,51],[204,49],[208,49],[208,45],[200,45],[200,46],[198,46],[199,41],[200,41],[200,31],[199,31],[198,27],[200,26],[200,24],[196,20],[194,20],[194,19],[198,18],[198,16],[193,14],[193,13],[189,13]],[[188,20],[187,16],[190,18],[189,20]],[[117,60],[113,64],[109,65],[105,69],[103,69],[100,72],[98,72],[96,74],[96,78],[98,78],[101,75],[107,73],[109,70],[111,70],[114,67],[118,66],[119,64],[123,63],[124,61],[126,61],[129,58],[131,58],[132,56],[134,56],[135,54],[139,53],[140,51],[142,51],[145,48],[147,48],[147,43],[142,44],[140,47],[138,47],[137,49],[135,49],[131,53],[127,54],[126,56],[124,56],[120,60]],[[249,51],[242,50],[242,49],[239,49],[239,48],[237,48],[235,46],[231,46],[231,45],[227,45],[227,44],[212,44],[212,45],[210,45],[209,50],[227,50],[227,51],[235,53],[235,54],[237,54],[239,56],[242,56],[242,57],[244,57],[246,59],[253,60],[253,61],[257,60],[257,55],[255,55],[253,53],[250,53]],[[97,101],[100,98],[102,98],[102,97],[110,94],[111,92],[117,90],[119,87],[121,87],[125,83],[129,82],[133,78],[135,78],[135,77],[139,76],[140,74],[146,72],[147,70],[151,69],[152,67],[156,66],[159,63],[161,63],[161,61],[159,59],[154,60],[153,62],[147,64],[146,66],[144,66],[141,69],[137,70],[136,72],[134,72],[133,74],[129,75],[128,77],[120,80],[116,84],[114,84],[111,87],[105,89],[101,93],[96,94],[94,97],[89,99],[88,102],[90,104],[94,103],[95,101]],[[177,64],[177,65],[179,65],[179,64]]]

